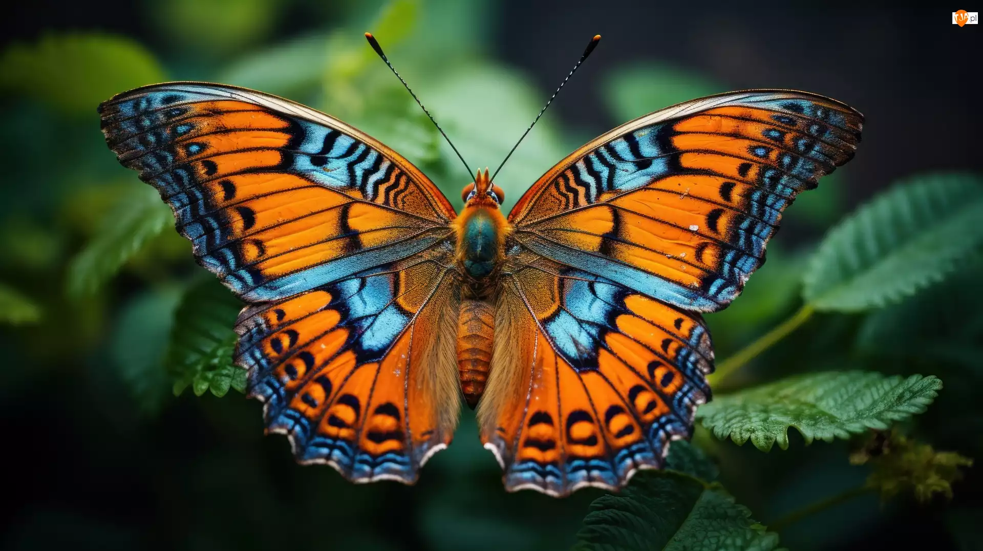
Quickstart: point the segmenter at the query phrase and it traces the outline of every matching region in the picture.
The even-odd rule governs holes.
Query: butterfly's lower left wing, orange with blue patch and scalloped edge
[[[239,316],[270,432],[358,482],[413,482],[457,424],[457,277],[428,251]]]

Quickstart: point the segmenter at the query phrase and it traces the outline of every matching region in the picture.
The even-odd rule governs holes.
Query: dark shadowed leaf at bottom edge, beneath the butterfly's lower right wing
[[[595,500],[577,539],[578,551],[766,551],[779,544],[720,484],[664,470],[639,472],[620,494]]]

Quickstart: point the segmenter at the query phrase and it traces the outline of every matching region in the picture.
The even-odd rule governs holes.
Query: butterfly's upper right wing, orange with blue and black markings
[[[509,214],[522,248],[680,308],[740,293],[795,195],[848,161],[863,117],[805,92],[695,99],[547,172]]]

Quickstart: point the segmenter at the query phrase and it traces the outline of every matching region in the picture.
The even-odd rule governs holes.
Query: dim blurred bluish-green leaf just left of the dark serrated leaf
[[[123,307],[109,343],[120,377],[146,413],[156,412],[167,398],[163,359],[180,296],[171,287],[138,295]]]

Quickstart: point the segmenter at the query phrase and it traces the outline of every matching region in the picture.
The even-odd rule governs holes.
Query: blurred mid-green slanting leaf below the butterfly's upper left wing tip
[[[115,276],[172,219],[170,209],[149,186],[133,186],[105,214],[95,235],[69,267],[69,293],[92,293]]]

